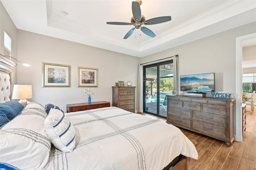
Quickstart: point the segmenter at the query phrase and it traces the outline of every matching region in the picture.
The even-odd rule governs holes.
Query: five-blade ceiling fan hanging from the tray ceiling
[[[124,39],[127,39],[129,36],[132,35],[135,28],[140,29],[144,34],[154,38],[156,34],[152,32],[150,29],[142,26],[144,25],[153,25],[153,24],[160,24],[163,22],[170,21],[172,18],[171,16],[160,16],[156,18],[152,18],[149,20],[146,20],[145,16],[141,14],[140,5],[142,4],[142,0],[136,0],[136,2],[132,2],[132,18],[131,23],[128,22],[107,22],[107,24],[112,25],[133,25],[134,28],[132,28],[130,31],[127,32],[127,34],[124,36]]]

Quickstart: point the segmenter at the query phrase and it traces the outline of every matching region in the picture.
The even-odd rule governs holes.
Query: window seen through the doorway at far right
[[[243,74],[243,92],[252,93],[256,89],[256,73]]]

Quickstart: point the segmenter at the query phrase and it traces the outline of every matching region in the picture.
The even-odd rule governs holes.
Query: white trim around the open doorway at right
[[[242,142],[242,42],[256,38],[256,33],[236,38],[236,112],[235,112],[235,136],[236,141]]]

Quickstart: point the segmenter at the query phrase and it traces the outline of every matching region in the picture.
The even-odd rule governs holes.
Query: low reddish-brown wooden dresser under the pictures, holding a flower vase
[[[96,109],[96,108],[104,108],[110,107],[110,102],[102,101],[102,102],[92,102],[88,103],[77,103],[77,104],[67,104],[67,113],[69,112],[77,112],[82,110]]]

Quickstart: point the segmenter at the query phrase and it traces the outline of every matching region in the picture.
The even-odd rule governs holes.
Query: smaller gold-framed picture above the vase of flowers
[[[78,67],[78,87],[97,87],[98,69],[89,67]]]

